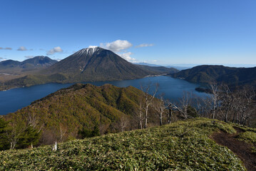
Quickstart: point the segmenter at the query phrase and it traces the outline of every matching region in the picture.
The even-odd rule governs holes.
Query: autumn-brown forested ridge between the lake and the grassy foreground
[[[50,144],[58,140],[61,130],[66,130],[63,140],[68,140],[77,138],[78,130],[93,130],[96,126],[101,134],[120,131],[118,122],[122,119],[128,123],[126,129],[138,128],[135,115],[142,96],[142,91],[132,86],[76,84],[4,118],[12,120],[17,128],[34,125],[37,130],[42,130],[41,144]],[[150,115],[154,114],[150,111]],[[149,123],[154,122],[149,120]]]

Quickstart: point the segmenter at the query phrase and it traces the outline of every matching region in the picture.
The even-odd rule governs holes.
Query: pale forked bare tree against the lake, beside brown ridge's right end
[[[158,83],[155,84],[155,90],[153,91],[153,95],[150,95],[150,84],[147,86],[140,86],[140,89],[143,91],[143,96],[145,98],[145,105],[144,105],[144,110],[145,110],[145,124],[144,128],[147,128],[148,124],[148,108],[151,105],[153,99],[155,98],[155,94],[158,91]]]

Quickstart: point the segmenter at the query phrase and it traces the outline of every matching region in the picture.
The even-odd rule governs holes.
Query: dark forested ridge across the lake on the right
[[[233,68],[226,66],[195,66],[190,69],[171,73],[173,78],[182,78],[195,83],[226,83],[230,86],[256,86],[256,67]]]

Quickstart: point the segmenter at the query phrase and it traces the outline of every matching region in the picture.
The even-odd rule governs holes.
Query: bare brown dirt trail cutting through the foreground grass
[[[255,171],[256,154],[252,153],[252,145],[247,142],[237,140],[237,135],[245,131],[237,127],[234,128],[237,130],[237,133],[235,134],[228,134],[221,131],[219,133],[214,133],[212,138],[215,140],[215,142],[217,142],[217,144],[228,147],[230,150],[232,150],[232,152],[240,157],[240,160],[242,160],[248,171]]]

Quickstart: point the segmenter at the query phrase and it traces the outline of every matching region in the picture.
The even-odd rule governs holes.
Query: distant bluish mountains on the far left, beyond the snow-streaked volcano
[[[14,60],[6,60],[0,62],[0,72],[16,72],[16,71],[29,71],[39,68],[46,68],[57,63],[58,61],[52,60],[48,56],[35,56],[25,61],[19,62]]]

